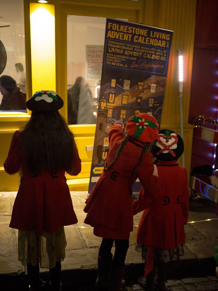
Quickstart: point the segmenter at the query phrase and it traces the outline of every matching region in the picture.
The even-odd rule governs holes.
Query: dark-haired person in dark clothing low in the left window
[[[0,110],[26,109],[25,96],[12,77],[7,75],[0,77],[0,92],[3,95]]]

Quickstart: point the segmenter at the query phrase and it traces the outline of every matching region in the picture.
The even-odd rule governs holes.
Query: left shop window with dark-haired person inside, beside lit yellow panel
[[[0,112],[27,112],[23,0],[0,0]]]

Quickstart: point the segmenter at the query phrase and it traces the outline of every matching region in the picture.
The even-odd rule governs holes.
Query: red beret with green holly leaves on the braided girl
[[[126,132],[140,142],[153,142],[158,135],[157,120],[147,113],[138,113],[127,121]]]

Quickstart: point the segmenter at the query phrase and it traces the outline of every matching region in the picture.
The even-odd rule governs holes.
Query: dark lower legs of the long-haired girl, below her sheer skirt
[[[56,262],[56,266],[49,269],[51,276],[51,286],[59,286],[61,283],[61,262]],[[27,264],[27,274],[31,286],[39,287],[39,265]]]

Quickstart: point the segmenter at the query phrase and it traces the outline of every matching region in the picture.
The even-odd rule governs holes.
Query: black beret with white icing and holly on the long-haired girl
[[[64,101],[54,91],[37,91],[26,102],[26,107],[31,111],[55,111],[63,107]]]

